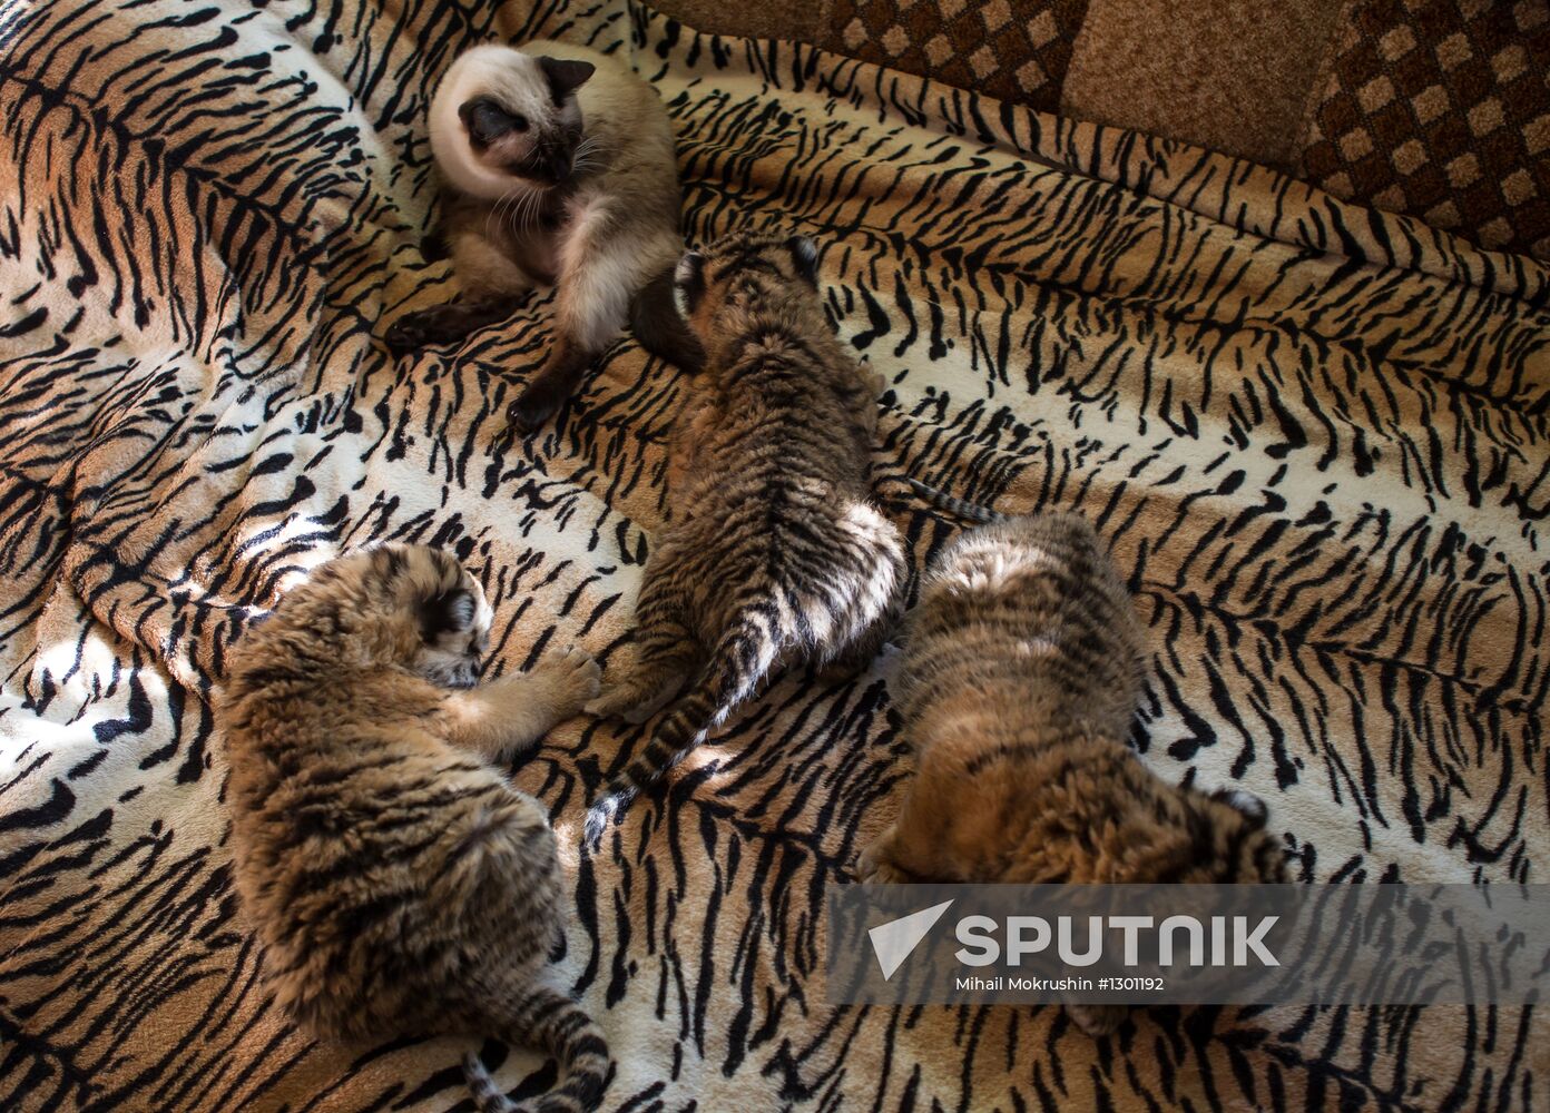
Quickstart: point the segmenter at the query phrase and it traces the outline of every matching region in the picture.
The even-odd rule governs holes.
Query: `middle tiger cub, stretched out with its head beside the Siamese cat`
[[[905,583],[871,498],[876,377],[828,326],[812,240],[738,233],[691,251],[674,301],[705,369],[673,434],[634,665],[587,710],[639,721],[693,679],[594,805],[594,840],[775,670],[870,660]]]

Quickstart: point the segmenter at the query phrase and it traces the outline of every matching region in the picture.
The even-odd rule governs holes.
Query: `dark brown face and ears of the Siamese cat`
[[[474,155],[539,188],[563,186],[584,169],[581,105],[575,90],[592,76],[591,62],[536,59],[547,93],[515,98],[487,93],[457,109]]]

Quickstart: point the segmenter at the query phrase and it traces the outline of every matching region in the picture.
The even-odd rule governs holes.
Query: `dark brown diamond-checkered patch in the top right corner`
[[[1352,0],[1296,169],[1550,260],[1550,0]]]

